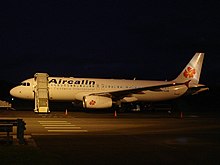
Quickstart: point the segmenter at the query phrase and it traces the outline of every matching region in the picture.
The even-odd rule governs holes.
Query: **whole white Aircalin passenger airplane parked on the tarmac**
[[[111,108],[132,102],[157,102],[208,90],[199,84],[204,53],[195,53],[182,72],[171,81],[101,78],[48,77],[48,99],[82,102],[85,109]],[[30,78],[12,88],[10,94],[35,99],[36,82]]]

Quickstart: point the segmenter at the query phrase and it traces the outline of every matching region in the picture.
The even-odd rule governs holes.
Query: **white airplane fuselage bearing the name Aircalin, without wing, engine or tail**
[[[117,80],[117,79],[96,79],[96,78],[62,78],[49,77],[48,89],[49,99],[55,101],[83,100],[84,96],[94,93],[108,93],[123,91],[148,86],[164,85],[167,81],[145,81],[145,80]],[[34,78],[27,79],[21,85],[11,89],[14,97],[22,99],[34,99],[35,90]],[[147,90],[131,94],[122,99],[124,102],[133,101],[163,101],[180,97],[187,91],[186,85],[170,86],[160,90]]]

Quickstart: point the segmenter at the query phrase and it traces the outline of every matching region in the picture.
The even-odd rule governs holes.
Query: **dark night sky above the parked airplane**
[[[0,4],[1,79],[173,79],[205,52],[202,83],[220,84],[220,1],[37,0]]]

